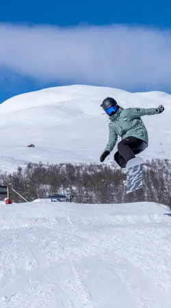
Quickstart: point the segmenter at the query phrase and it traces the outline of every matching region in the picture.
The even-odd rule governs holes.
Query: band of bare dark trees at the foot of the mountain
[[[77,203],[127,203],[152,201],[171,208],[171,163],[168,159],[147,161],[144,169],[144,188],[126,194],[121,169],[107,164],[29,163],[16,172],[1,172],[1,185],[12,188],[28,201],[47,198],[49,194],[73,194]],[[23,202],[14,192],[14,202]],[[2,199],[2,196],[1,196]]]

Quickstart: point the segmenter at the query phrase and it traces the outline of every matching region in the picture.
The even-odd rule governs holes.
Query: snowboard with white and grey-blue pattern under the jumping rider
[[[143,187],[142,171],[144,167],[144,160],[140,157],[130,159],[126,165],[127,172],[127,194],[134,192]]]

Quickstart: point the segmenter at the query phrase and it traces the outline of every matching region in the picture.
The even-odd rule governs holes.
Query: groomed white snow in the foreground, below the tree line
[[[1,203],[0,307],[170,308],[165,214],[156,203]]]

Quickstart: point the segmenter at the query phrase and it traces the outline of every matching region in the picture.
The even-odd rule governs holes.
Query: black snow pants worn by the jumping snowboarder
[[[144,151],[147,146],[148,144],[139,138],[125,138],[118,143],[118,151],[115,153],[114,159],[121,168],[125,168],[129,159],[135,158],[135,155]]]

